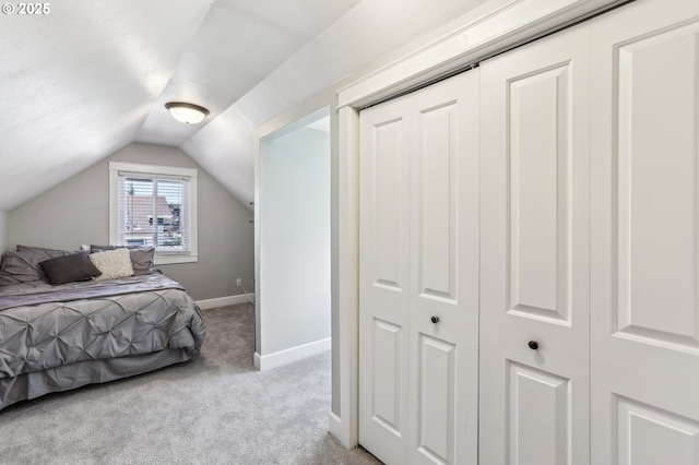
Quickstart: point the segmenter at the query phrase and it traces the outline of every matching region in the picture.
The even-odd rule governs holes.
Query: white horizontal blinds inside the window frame
[[[156,253],[191,251],[191,179],[119,171],[118,240]]]

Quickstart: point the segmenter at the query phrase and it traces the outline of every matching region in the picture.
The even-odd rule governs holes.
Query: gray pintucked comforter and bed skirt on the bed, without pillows
[[[201,312],[158,273],[0,287],[0,408],[197,357]]]

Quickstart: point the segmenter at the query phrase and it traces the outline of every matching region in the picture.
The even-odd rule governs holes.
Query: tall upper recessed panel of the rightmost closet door
[[[695,347],[697,260],[687,255],[697,253],[698,38],[699,22],[617,50],[613,187],[618,192],[617,331]]]

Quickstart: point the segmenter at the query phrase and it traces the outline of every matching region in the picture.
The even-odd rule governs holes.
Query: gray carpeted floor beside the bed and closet
[[[251,305],[205,310],[199,359],[0,412],[0,464],[378,464],[328,433],[330,353],[252,366]]]

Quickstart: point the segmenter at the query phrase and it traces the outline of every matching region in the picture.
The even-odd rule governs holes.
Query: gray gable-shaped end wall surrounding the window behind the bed
[[[175,147],[131,144],[9,214],[9,250],[17,243],[76,250],[109,241],[107,160],[199,168],[199,262],[158,265],[194,300],[242,294],[236,278],[253,289],[252,212]],[[2,215],[0,215],[0,246]]]

